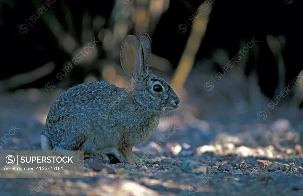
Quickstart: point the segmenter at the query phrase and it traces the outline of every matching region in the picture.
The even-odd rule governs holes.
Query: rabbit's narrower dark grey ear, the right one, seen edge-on
[[[140,33],[138,35],[138,39],[140,40],[142,45],[144,69],[146,70],[146,72],[148,72],[149,56],[151,52],[151,38],[147,33]]]

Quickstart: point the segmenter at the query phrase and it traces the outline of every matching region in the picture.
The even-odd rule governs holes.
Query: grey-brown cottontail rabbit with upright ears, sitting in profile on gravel
[[[41,134],[42,150],[85,151],[85,159],[138,165],[132,147],[155,131],[160,115],[178,108],[180,100],[171,86],[149,71],[151,39],[126,35],[120,61],[132,77],[133,88],[105,81],[83,83],[63,92],[52,104]],[[111,152],[98,152],[104,148]]]

